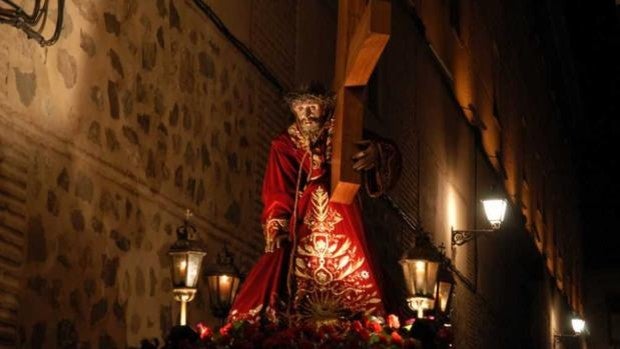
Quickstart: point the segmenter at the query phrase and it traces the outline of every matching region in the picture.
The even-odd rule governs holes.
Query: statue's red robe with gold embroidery
[[[330,319],[365,313],[383,315],[382,294],[370,263],[361,211],[329,202],[329,163],[325,145],[303,149],[290,133],[276,137],[263,180],[262,223],[266,240],[288,230],[297,245],[265,253],[252,268],[232,306],[230,319],[254,318],[282,310],[279,301],[292,302],[299,321]],[[301,177],[297,187],[300,162]],[[298,195],[297,220],[291,222]],[[276,224],[277,223],[277,224]],[[279,229],[270,229],[277,226]],[[295,253],[292,295],[286,277],[290,253]],[[288,297],[284,297],[287,295]]]

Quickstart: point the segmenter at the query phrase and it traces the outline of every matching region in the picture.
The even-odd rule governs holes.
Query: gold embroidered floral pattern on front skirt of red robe
[[[327,192],[317,187],[304,219],[310,234],[300,239],[295,258],[298,321],[329,323],[355,313],[370,314],[381,302],[364,257],[349,237],[336,231],[341,221],[340,213],[329,206]]]

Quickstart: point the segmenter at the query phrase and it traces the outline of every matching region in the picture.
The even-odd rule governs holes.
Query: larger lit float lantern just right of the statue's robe
[[[415,246],[400,260],[407,288],[407,304],[411,310],[417,311],[418,318],[424,317],[424,310],[434,304],[440,262],[439,253],[424,233],[416,238]]]

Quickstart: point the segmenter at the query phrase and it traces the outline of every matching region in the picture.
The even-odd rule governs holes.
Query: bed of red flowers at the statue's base
[[[387,321],[378,317],[339,321],[321,326],[287,327],[278,323],[241,320],[212,329],[199,323],[195,331],[174,328],[164,349],[323,349],[323,348],[409,348],[422,349],[431,335],[433,348],[452,348],[449,328],[435,331],[431,322],[407,320],[401,326],[395,315]],[[146,347],[143,347],[146,348]]]

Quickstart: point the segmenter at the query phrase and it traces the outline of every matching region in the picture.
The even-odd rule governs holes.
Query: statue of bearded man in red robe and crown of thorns
[[[230,320],[326,324],[384,315],[382,292],[358,201],[330,202],[335,96],[309,84],[285,96],[295,116],[271,142],[263,181],[265,253],[248,274]],[[376,197],[399,174],[400,155],[385,140],[357,143],[351,165]]]

